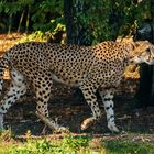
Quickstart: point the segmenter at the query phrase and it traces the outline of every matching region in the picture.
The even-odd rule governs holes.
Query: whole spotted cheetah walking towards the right
[[[82,122],[81,130],[86,130],[102,116],[96,96],[98,90],[107,113],[108,128],[118,132],[113,96],[130,63],[153,65],[154,46],[147,41],[107,41],[94,46],[41,42],[18,44],[7,51],[0,61],[0,92],[6,68],[9,68],[11,76],[10,89],[0,105],[0,128],[3,128],[3,114],[26,92],[28,82],[33,86],[37,98],[36,111],[48,119],[47,101],[53,80],[56,80],[81,89],[92,112]],[[55,129],[59,128],[54,120],[51,122]]]

